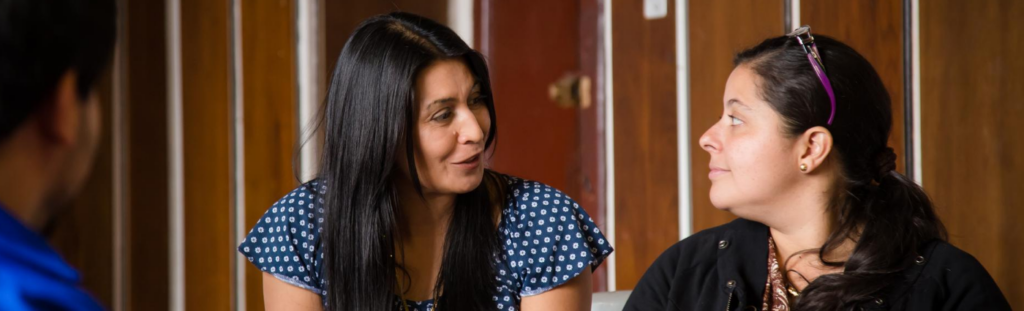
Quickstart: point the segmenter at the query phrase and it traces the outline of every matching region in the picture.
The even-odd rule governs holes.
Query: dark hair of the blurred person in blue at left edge
[[[0,0],[0,142],[74,71],[80,98],[108,68],[116,38],[112,0]]]

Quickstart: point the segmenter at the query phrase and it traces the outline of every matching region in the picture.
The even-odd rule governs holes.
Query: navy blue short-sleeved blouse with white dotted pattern
[[[539,295],[594,269],[611,245],[593,219],[567,195],[546,184],[507,177],[508,198],[499,224],[504,252],[496,255],[497,310],[516,310],[523,297]],[[307,187],[308,186],[308,187]],[[309,188],[316,189],[310,191]],[[273,204],[239,252],[260,270],[324,300],[325,279],[317,247],[324,219],[321,198],[328,188],[316,181]],[[433,310],[432,301],[406,301],[410,310]],[[395,297],[395,310],[403,310]]]

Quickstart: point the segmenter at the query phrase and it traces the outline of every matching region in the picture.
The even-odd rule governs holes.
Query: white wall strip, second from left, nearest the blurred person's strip
[[[181,93],[181,3],[167,0],[167,90],[168,90],[168,176],[170,223],[170,308],[183,311],[185,302],[184,248],[184,152]]]

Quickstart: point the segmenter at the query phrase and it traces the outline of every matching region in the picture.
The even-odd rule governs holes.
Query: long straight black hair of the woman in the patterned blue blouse
[[[422,194],[413,158],[414,86],[421,70],[441,59],[465,61],[479,84],[492,120],[489,148],[498,122],[487,68],[451,29],[410,13],[379,15],[364,21],[338,56],[319,121],[326,131],[317,179],[328,188],[319,243],[328,310],[391,309],[396,278],[409,277],[396,275],[392,257],[400,236],[392,179],[404,178],[397,164],[406,161]],[[476,189],[456,198],[433,294],[444,310],[495,306],[493,256],[500,241],[492,207],[493,197],[504,195],[496,190],[500,178],[487,171]]]

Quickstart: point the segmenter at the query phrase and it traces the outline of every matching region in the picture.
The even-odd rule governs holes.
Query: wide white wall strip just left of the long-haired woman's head
[[[317,153],[315,115],[321,102],[319,0],[296,1],[296,89],[299,103],[299,171],[303,182],[316,175]],[[243,235],[244,236],[244,235]],[[240,257],[241,258],[241,257]]]

